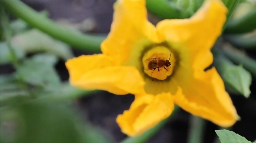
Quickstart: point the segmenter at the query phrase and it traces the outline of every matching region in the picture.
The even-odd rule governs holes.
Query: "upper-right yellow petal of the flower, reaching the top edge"
[[[160,37],[179,51],[187,51],[180,59],[194,61],[198,71],[208,67],[213,57],[211,47],[221,35],[226,20],[227,8],[220,0],[207,0],[189,19],[163,20],[157,24]]]

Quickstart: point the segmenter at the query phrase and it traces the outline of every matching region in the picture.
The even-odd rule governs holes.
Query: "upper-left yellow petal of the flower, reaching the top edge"
[[[110,33],[101,44],[103,54],[122,63],[140,40],[158,41],[155,26],[147,20],[145,5],[145,0],[117,0]]]

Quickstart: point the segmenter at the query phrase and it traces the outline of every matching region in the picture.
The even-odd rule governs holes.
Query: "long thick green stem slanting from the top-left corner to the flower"
[[[38,28],[55,39],[64,41],[80,50],[100,52],[100,43],[105,39],[105,36],[85,35],[62,27],[19,0],[1,0],[1,4],[16,17],[23,19],[31,26]]]

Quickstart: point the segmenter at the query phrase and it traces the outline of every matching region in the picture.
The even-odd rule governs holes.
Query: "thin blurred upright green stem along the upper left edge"
[[[7,43],[7,46],[10,50],[10,56],[11,56],[11,62],[15,68],[18,66],[18,58],[16,56],[15,51],[13,50],[13,47],[11,45],[11,29],[10,29],[10,23],[9,23],[9,18],[8,15],[5,12],[4,7],[1,6],[1,26],[3,30],[3,34]]]

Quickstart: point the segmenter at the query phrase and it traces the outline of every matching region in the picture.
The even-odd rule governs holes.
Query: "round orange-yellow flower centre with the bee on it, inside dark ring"
[[[175,56],[165,46],[148,50],[142,57],[144,72],[150,77],[164,80],[170,76],[175,66]]]

